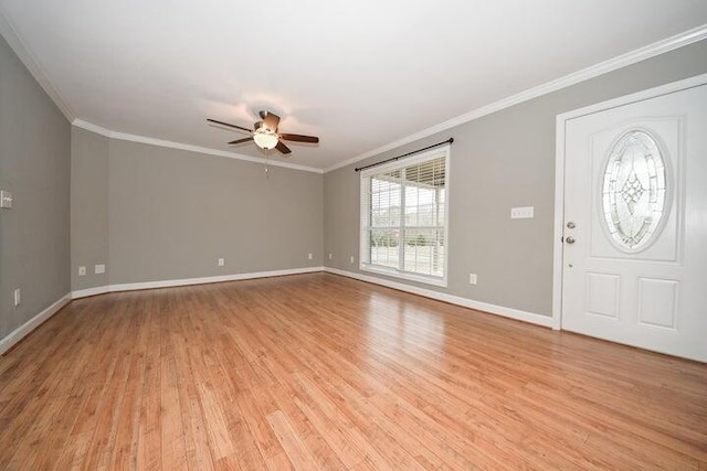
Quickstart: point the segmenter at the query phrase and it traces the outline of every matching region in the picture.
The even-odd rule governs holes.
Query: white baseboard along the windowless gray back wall
[[[292,268],[287,270],[255,271],[251,274],[220,275],[215,277],[203,277],[203,278],[183,278],[183,279],[175,279],[175,280],[107,285],[107,286],[99,286],[96,288],[80,289],[80,290],[73,291],[72,299],[86,298],[88,296],[103,295],[106,292],[135,291],[139,289],[154,289],[154,288],[172,288],[172,287],[188,286],[188,285],[205,285],[205,283],[222,282],[222,281],[238,281],[238,280],[249,280],[249,279],[255,279],[255,278],[282,277],[286,275],[312,274],[315,271],[324,271],[324,267]]]

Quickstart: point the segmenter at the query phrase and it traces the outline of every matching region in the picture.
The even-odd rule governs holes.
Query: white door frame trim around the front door
[[[564,234],[564,161],[566,161],[566,124],[570,119],[592,115],[599,111],[618,108],[637,101],[655,98],[675,92],[682,92],[688,88],[695,88],[707,84],[707,74],[696,75],[683,81],[673,82],[654,88],[648,88],[619,98],[598,103],[595,105],[585,106],[583,108],[573,109],[571,111],[557,115],[556,118],[556,153],[555,153],[555,229],[552,246],[552,329],[560,330],[562,328],[562,279],[563,279],[563,250],[564,243],[562,235]]]

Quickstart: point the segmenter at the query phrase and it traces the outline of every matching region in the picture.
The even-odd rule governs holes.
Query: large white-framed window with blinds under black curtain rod
[[[361,172],[361,266],[446,286],[450,147]]]

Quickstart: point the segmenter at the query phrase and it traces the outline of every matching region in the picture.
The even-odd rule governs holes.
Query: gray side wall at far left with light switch
[[[0,339],[70,292],[70,169],[71,125],[0,38]]]

